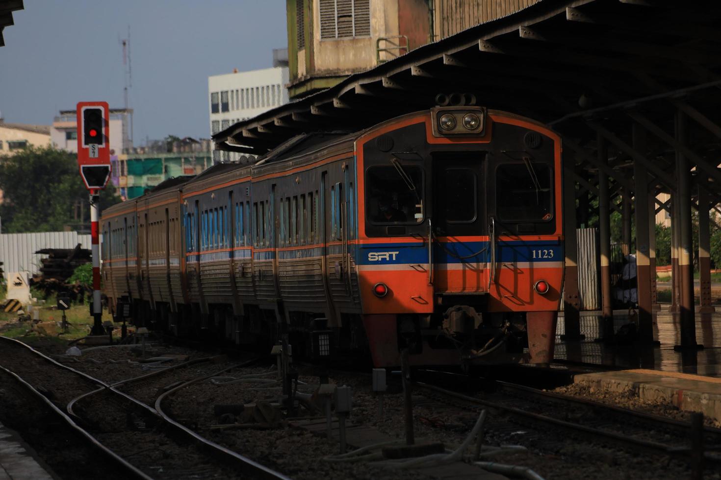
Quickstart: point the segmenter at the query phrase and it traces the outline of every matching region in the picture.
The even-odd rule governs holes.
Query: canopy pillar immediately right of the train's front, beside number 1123
[[[566,158],[564,158],[565,160]],[[571,160],[571,159],[569,159]],[[573,178],[573,162],[564,168],[563,175],[563,241],[565,250],[565,274],[563,280],[563,322],[565,335],[562,340],[580,340],[580,314],[578,301],[578,241],[576,240],[576,185]]]

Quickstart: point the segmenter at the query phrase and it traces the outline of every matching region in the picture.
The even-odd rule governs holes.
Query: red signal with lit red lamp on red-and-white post
[[[100,190],[110,178],[110,116],[106,101],[81,101],[77,105],[78,168],[90,196],[92,236],[92,335],[104,335],[100,304]]]

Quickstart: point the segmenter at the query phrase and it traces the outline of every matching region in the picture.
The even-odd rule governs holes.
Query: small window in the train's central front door
[[[447,223],[469,223],[476,219],[477,178],[470,168],[446,168],[441,172],[441,191],[435,207]]]

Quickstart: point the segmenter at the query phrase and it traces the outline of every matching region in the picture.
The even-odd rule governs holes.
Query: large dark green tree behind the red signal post
[[[65,225],[88,225],[88,192],[76,155],[51,147],[29,147],[0,163],[3,232],[50,232]],[[78,202],[84,202],[83,218],[75,219]],[[116,204],[113,189],[100,194],[100,208]]]

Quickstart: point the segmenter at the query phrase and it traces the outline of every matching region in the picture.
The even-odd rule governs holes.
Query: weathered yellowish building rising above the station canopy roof
[[[539,0],[286,0],[291,99]]]

